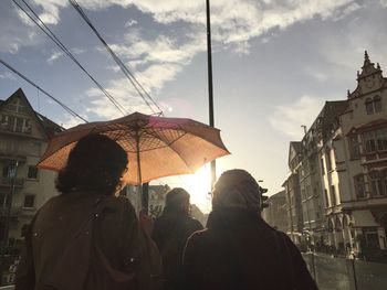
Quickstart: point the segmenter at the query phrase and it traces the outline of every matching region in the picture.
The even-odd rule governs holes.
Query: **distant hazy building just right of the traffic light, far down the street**
[[[286,233],[287,230],[287,212],[285,191],[273,194],[266,201],[269,207],[262,212],[263,219],[272,227]]]

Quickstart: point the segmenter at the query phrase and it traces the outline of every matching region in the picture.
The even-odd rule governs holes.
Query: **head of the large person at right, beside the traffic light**
[[[224,171],[212,191],[212,208],[238,207],[260,212],[261,193],[258,182],[245,170]]]

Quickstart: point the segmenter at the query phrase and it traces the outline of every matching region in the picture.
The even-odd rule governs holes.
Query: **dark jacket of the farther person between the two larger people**
[[[166,290],[177,289],[186,243],[192,233],[202,228],[197,219],[184,213],[164,212],[155,221],[151,237],[161,255]]]

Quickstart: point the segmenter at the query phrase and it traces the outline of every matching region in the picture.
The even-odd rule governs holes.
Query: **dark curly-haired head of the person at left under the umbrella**
[[[67,164],[59,172],[56,189],[115,194],[122,186],[127,170],[127,154],[114,140],[104,135],[88,135],[71,150]]]

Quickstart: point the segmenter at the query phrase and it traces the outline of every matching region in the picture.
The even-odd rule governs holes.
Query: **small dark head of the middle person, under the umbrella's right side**
[[[166,195],[164,212],[189,214],[189,197],[186,190],[181,187],[172,189]]]

